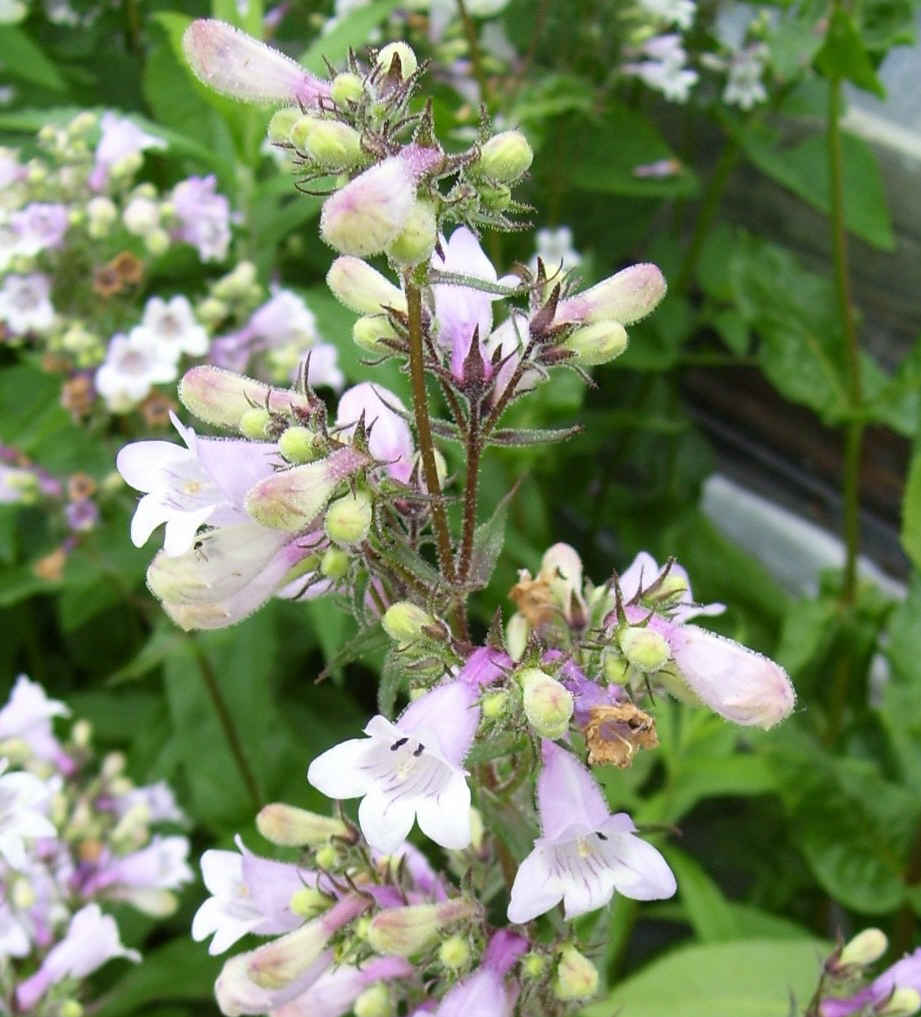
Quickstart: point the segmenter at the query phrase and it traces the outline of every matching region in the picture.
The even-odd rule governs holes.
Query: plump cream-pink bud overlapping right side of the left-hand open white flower
[[[244,506],[262,526],[296,533],[325,508],[342,481],[370,465],[357,448],[340,448],[325,459],[281,470],[246,492]]]

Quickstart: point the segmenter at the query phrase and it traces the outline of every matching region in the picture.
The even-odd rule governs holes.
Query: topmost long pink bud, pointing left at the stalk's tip
[[[182,49],[201,81],[244,103],[317,106],[329,95],[325,81],[226,21],[192,21],[182,37]]]

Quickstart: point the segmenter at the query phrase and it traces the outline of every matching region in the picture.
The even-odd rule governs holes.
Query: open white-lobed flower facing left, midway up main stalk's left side
[[[199,437],[170,414],[186,447],[173,441],[132,441],[118,454],[116,467],[125,482],[144,496],[131,519],[131,542],[140,547],[166,524],[164,550],[184,554],[199,527],[249,522],[246,492],[281,463],[277,446],[243,438]]]

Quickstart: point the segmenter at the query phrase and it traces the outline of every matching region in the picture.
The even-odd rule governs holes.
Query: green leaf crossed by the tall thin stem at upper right
[[[777,135],[764,127],[730,127],[746,157],[764,174],[789,188],[807,204],[827,216],[832,208],[828,156],[823,134],[814,134],[794,145],[781,146]],[[843,185],[845,225],[880,250],[893,251],[888,204],[879,163],[862,138],[843,131]]]

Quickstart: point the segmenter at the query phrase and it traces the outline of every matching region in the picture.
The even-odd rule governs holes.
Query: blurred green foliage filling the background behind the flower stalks
[[[894,194],[884,156],[857,133],[839,135],[837,211],[828,169],[830,97],[843,79],[878,94],[880,63],[912,39],[916,6],[865,0],[853,14],[814,0],[770,7],[772,87],[751,111],[722,103],[705,82],[688,105],[669,105],[616,74],[627,15],[610,0],[510,0],[497,20],[513,58],[503,64],[480,53],[480,98],[537,149],[524,188],[534,223],[571,229],[586,283],[653,260],[670,294],[631,331],[627,353],[595,371],[596,387],[562,376],[514,411],[520,424],[577,421],[575,438],[487,457],[489,510],[513,482],[520,487],[492,592],[476,605],[479,621],[485,630],[497,607],[507,615],[503,591],[515,570],[535,570],[555,540],[578,547],[599,582],[639,549],[660,560],[675,554],[702,602],[728,605],[716,625],[776,657],[799,695],[793,718],[764,735],[662,704],[662,751],[629,771],[602,771],[613,805],[640,825],[675,831],[666,854],[678,897],[641,907],[618,898],[609,919],[591,919],[611,922],[605,971],[625,1014],[780,1015],[791,991],[801,1006],[811,992],[816,939],[871,922],[896,951],[919,942],[919,314],[915,300],[894,321],[864,276],[914,280],[916,296],[917,243],[899,217],[911,222],[917,189]],[[208,92],[181,60],[191,17],[212,14],[261,35],[260,5],[251,0],[244,15],[234,0],[181,8],[123,0],[75,29],[37,3],[18,24],[0,26],[2,74],[14,88],[0,112],[4,143],[24,159],[44,124],[82,109],[131,113],[169,142],[147,155],[144,179],[166,188],[213,173],[242,214],[221,270],[248,258],[263,283],[283,278],[339,347],[350,381],[381,378],[362,363],[352,315],[323,284],[329,252],[315,228],[319,199],[298,194],[261,151],[268,112]],[[477,89],[458,98],[443,73],[459,59],[469,70],[462,22],[433,49],[425,12],[394,0],[358,7],[321,35],[330,14],[293,3],[273,41],[322,71],[321,56],[341,65],[372,33],[405,37],[435,61],[442,133],[469,137]],[[688,45],[713,48],[718,15],[701,4]],[[635,173],[663,163],[671,172]],[[861,307],[856,395],[835,283],[836,215]],[[503,266],[533,254],[530,233],[492,235],[486,246]],[[145,292],[200,293],[217,271],[171,252],[150,264]],[[60,378],[42,369],[36,351],[0,345],[0,439],[56,476],[80,471],[102,481],[114,451],[142,430],[128,418],[75,423],[60,406]],[[387,370],[386,383],[405,394],[404,379]],[[853,453],[855,430],[849,493],[845,450]],[[458,467],[455,450],[444,452]],[[772,574],[750,542],[733,542],[701,507],[716,472],[832,531],[849,504],[859,507],[865,546],[898,582],[879,586],[831,567],[809,589]],[[181,633],[144,589],[150,551],[128,540],[133,504],[126,490],[108,497],[101,524],[57,576],[36,563],[60,543],[59,524],[41,504],[0,505],[0,672],[11,683],[25,671],[70,703],[103,745],[127,754],[135,779],[169,779],[193,818],[197,847],[228,846],[238,831],[255,845],[258,803],[321,804],[304,767],[374,709],[382,655],[336,663],[352,622],[326,600],[273,601],[229,631]],[[760,525],[753,520],[749,530]],[[328,679],[317,683],[330,660]],[[240,733],[249,783],[222,709]],[[202,893],[185,893],[180,912],[147,942],[141,967],[106,969],[101,984],[110,993],[98,1017],[205,1012],[216,963],[187,943]],[[148,929],[133,920],[140,942]],[[750,1010],[740,1009],[743,998]]]

